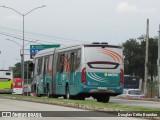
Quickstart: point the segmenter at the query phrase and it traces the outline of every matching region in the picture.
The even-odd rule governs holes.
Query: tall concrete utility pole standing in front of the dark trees
[[[145,54],[145,71],[144,71],[145,96],[147,96],[147,80],[148,80],[148,40],[149,40],[149,19],[147,19],[147,28],[146,28],[146,54]]]

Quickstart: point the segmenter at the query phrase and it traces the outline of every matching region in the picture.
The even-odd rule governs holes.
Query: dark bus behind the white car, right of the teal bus
[[[139,77],[124,75],[124,89],[140,89]]]

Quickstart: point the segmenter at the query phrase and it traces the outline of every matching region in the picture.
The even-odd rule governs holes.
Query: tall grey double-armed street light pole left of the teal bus
[[[22,86],[24,86],[24,17],[26,15],[28,15],[29,13],[31,13],[32,11],[36,10],[36,9],[43,8],[43,7],[46,7],[46,6],[42,5],[40,7],[36,7],[36,8],[30,10],[29,12],[27,12],[25,14],[22,14],[22,13],[18,12],[17,10],[15,10],[13,8],[10,8],[10,7],[6,7],[6,6],[0,6],[0,7],[10,9],[10,10],[18,13],[19,15],[21,15],[23,17],[23,45],[22,45],[22,80],[23,80],[23,82],[22,82]]]

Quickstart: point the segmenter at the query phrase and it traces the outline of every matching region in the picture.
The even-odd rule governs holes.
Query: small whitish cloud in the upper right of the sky
[[[146,8],[139,8],[134,4],[130,4],[127,2],[119,3],[116,7],[116,11],[118,13],[153,13],[155,9],[146,9]]]

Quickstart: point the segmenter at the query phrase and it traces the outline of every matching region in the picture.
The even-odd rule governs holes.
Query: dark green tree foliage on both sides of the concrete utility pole
[[[125,74],[136,75],[144,78],[145,65],[145,36],[137,39],[129,39],[123,43],[124,47],[124,69]],[[153,76],[157,74],[157,58],[158,58],[158,39],[149,38],[148,51],[148,74],[153,80]]]

